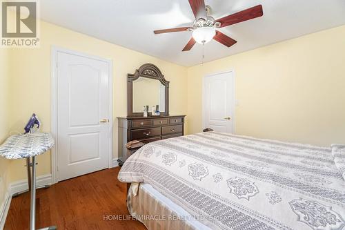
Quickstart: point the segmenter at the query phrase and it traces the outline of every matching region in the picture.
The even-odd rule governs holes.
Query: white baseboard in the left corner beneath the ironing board
[[[46,174],[46,175],[39,175],[36,178],[36,186],[44,186],[44,185],[50,185],[52,184],[52,175]],[[21,193],[23,191],[28,190],[28,179],[26,180],[18,180],[16,182],[12,182],[8,185],[8,192],[5,195],[5,199],[3,201],[3,204],[0,207],[0,229],[3,229],[6,217],[8,214],[8,209],[10,209],[10,204],[12,200],[12,195],[14,193]]]

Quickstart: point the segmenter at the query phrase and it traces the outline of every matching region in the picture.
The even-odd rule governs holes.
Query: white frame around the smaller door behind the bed
[[[206,77],[213,77],[215,75],[220,75],[220,74],[223,74],[223,73],[230,73],[231,74],[231,77],[233,77],[233,113],[231,114],[231,119],[232,119],[232,126],[233,126],[233,132],[232,133],[235,133],[235,103],[236,103],[236,100],[235,100],[235,70],[225,70],[225,71],[221,71],[221,72],[217,72],[217,73],[209,73],[207,75],[204,75],[204,77],[202,78],[202,126],[203,128],[208,128],[206,127],[206,108],[205,108],[205,101],[206,101],[206,98],[205,98],[205,79]]]

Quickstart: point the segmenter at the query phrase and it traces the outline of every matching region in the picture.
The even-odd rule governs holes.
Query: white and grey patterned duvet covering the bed
[[[345,229],[332,149],[225,133],[146,144],[122,182],[145,182],[212,229]]]

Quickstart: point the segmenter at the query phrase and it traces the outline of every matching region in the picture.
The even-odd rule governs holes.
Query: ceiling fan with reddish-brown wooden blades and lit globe
[[[215,39],[224,46],[233,46],[237,41],[224,35],[219,30],[216,30],[216,28],[230,26],[235,23],[255,19],[256,17],[261,17],[264,15],[264,12],[262,12],[262,5],[257,5],[252,8],[239,11],[233,15],[228,15],[226,17],[222,17],[221,19],[215,20],[213,17],[210,17],[210,7],[205,6],[204,0],[188,1],[195,16],[195,21],[193,22],[192,27],[180,27],[154,31],[155,35],[166,32],[193,31],[192,38],[188,41],[188,44],[182,51],[190,50],[196,42],[199,44],[206,44],[212,39]]]

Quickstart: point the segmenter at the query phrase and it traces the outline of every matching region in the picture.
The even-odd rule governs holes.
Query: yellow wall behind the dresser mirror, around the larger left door
[[[114,90],[114,157],[117,157],[117,116],[127,115],[128,73],[139,66],[152,63],[170,81],[170,113],[187,112],[187,69],[155,57],[141,54],[106,41],[82,35],[50,23],[41,22],[41,48],[18,48],[11,55],[11,117],[10,130],[22,131],[34,112],[43,123],[42,131],[50,131],[50,50],[60,46],[90,55],[112,59]],[[39,175],[50,173],[50,153],[37,159]],[[26,178],[21,160],[11,162],[10,181]]]

